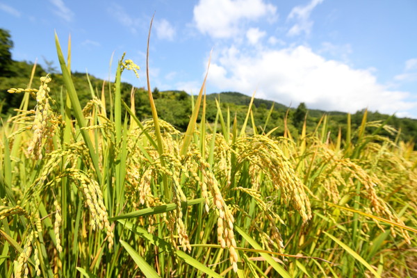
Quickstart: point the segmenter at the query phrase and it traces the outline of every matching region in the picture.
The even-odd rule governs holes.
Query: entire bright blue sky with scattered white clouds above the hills
[[[58,65],[72,38],[72,70],[108,79],[126,51],[146,85],[149,22],[152,88],[238,91],[296,107],[354,113],[362,108],[417,118],[417,1],[0,0],[0,28],[15,60]],[[66,47],[64,47],[66,49]]]

